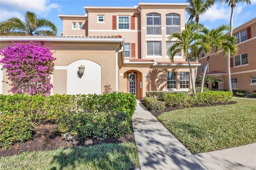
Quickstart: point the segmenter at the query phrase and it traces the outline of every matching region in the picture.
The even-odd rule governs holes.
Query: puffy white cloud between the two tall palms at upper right
[[[240,9],[242,10],[242,9]],[[202,16],[200,16],[200,22],[210,21],[215,22],[216,20],[230,20],[231,8],[224,5],[214,5]]]

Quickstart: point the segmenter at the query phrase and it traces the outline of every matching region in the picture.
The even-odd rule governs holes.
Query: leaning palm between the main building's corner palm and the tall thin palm
[[[229,29],[227,25],[221,25],[218,28],[208,30],[207,28],[202,28],[201,33],[203,35],[202,42],[206,43],[210,49],[215,48],[215,55],[220,53],[221,50],[224,51],[224,56],[228,55],[228,52],[232,55],[235,55],[238,51],[238,47],[236,46],[236,37],[230,36],[230,34],[226,34],[225,31]],[[199,48],[199,52],[204,49],[204,47]],[[204,73],[202,76],[202,84],[201,84],[201,92],[203,92],[204,87],[204,77],[206,74],[206,70],[209,64],[211,50],[205,50],[206,55],[206,65],[204,68]]]

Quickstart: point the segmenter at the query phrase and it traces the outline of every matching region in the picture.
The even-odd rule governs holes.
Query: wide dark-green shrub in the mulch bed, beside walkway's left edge
[[[120,137],[131,133],[130,117],[122,111],[64,113],[57,121],[57,129],[62,134],[70,132],[82,138]]]

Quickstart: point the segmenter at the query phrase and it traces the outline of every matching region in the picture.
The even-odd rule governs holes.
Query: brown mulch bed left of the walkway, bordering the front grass
[[[63,140],[60,133],[56,131],[56,125],[52,124],[38,126],[33,129],[33,133],[33,139],[31,140],[16,143],[6,150],[1,148],[0,156],[11,156],[26,151],[54,150],[60,147],[69,148],[92,146],[101,143],[135,142],[134,133],[131,133],[120,138],[106,138],[104,140],[100,140],[99,138],[84,138],[79,140],[80,142],[78,144],[74,145],[72,142]]]

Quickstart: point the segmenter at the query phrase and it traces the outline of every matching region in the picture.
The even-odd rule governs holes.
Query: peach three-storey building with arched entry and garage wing
[[[85,15],[58,15],[63,20],[63,37],[2,37],[0,47],[35,41],[55,51],[52,94],[123,91],[143,99],[146,91],[188,90],[192,88],[188,62],[182,53],[174,62],[166,54],[176,41],[168,42],[169,35],[185,29],[188,5],[84,6]],[[80,65],[85,65],[81,78],[76,77]],[[192,62],[193,71],[199,65]],[[7,90],[0,85],[0,93]]]

